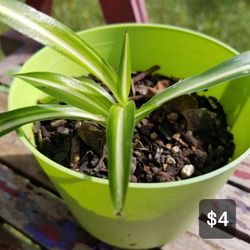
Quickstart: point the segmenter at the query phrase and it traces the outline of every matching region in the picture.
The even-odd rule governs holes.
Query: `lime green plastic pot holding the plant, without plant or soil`
[[[198,74],[237,52],[211,37],[171,26],[115,25],[80,32],[115,68],[119,62],[125,29],[131,40],[132,69],[158,64],[161,73],[185,78]],[[66,75],[86,74],[63,56],[44,48],[21,69],[52,71]],[[187,230],[198,218],[198,205],[214,197],[236,166],[248,155],[250,136],[249,78],[227,82],[204,92],[217,97],[228,115],[236,150],[226,166],[205,174],[171,183],[131,183],[123,217],[112,211],[108,181],[67,169],[39,153],[34,147],[32,125],[18,130],[79,223],[92,235],[123,248],[151,248],[165,244]],[[11,88],[11,109],[33,105],[41,92],[21,80]]]

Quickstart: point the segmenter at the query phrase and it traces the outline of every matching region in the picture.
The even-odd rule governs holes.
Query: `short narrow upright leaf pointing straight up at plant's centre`
[[[130,63],[130,46],[129,35],[126,31],[123,48],[120,59],[119,74],[117,80],[117,90],[123,104],[127,104],[131,86],[131,63]]]

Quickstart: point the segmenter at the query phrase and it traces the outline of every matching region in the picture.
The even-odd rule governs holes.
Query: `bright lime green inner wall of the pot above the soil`
[[[131,41],[133,70],[144,70],[160,65],[160,73],[178,78],[199,74],[209,67],[237,54],[227,45],[189,30],[161,25],[115,25],[80,32],[80,36],[93,46],[111,65],[117,68],[125,29]],[[50,71],[70,76],[87,74],[83,68],[50,48],[36,53],[21,69]],[[228,115],[230,130],[234,134],[234,159],[249,148],[250,77],[226,82],[207,92],[220,100]],[[43,94],[41,91],[16,79],[12,86],[11,109],[30,106]],[[31,124],[23,126],[21,134],[34,143]]]

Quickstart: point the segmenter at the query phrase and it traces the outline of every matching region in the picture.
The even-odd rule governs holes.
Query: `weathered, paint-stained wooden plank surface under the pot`
[[[0,93],[0,112],[6,109],[7,95]],[[187,232],[162,249],[250,249],[250,157],[217,198],[233,199],[237,204],[236,237],[202,239],[197,219]],[[115,248],[94,239],[78,225],[33,156],[11,133],[0,138],[0,250],[24,249]]]

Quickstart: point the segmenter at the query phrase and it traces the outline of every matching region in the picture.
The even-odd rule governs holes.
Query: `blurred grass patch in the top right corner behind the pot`
[[[146,0],[146,4],[151,22],[197,30],[239,51],[250,49],[249,0]]]

